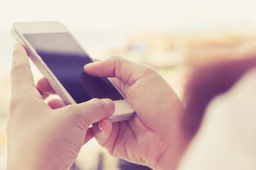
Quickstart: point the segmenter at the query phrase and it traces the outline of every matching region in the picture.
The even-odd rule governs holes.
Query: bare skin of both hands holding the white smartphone
[[[111,124],[106,120],[114,111],[111,100],[72,106],[59,100],[45,104],[43,99],[54,91],[45,79],[35,88],[26,51],[22,45],[15,46],[8,169],[15,169],[11,162],[17,162],[19,169],[66,169],[93,136],[113,156],[157,170],[176,167],[187,145],[181,126],[184,106],[163,77],[152,67],[119,57],[86,65],[84,70],[93,76],[112,77],[137,114],[129,121]],[[97,126],[88,128],[97,121]],[[33,163],[23,163],[27,161],[20,154]]]

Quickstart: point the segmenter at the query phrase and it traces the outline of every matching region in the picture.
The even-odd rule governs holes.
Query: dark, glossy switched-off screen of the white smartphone
[[[92,77],[84,65],[93,62],[67,32],[23,34],[76,103],[93,98],[122,100],[107,78]]]

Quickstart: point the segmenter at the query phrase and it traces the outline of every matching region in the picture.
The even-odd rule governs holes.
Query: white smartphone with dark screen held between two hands
[[[11,34],[26,46],[29,58],[67,105],[109,98],[116,105],[109,121],[120,122],[134,115],[125,95],[110,79],[92,77],[84,71],[84,65],[93,59],[63,24],[14,23]]]

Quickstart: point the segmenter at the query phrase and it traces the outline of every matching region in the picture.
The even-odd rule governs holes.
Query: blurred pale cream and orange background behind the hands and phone
[[[6,169],[12,23],[64,23],[91,57],[152,65],[182,98],[191,65],[256,53],[255,7],[255,0],[0,0],[0,170]],[[35,81],[42,77],[34,65],[32,71]],[[77,168],[148,169],[108,156],[94,139]]]

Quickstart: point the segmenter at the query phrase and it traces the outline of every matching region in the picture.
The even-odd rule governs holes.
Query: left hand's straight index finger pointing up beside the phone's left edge
[[[12,91],[20,91],[24,88],[26,89],[35,86],[28,55],[21,44],[16,44],[14,46],[10,77]]]

